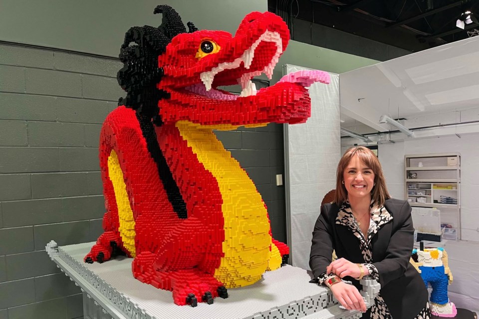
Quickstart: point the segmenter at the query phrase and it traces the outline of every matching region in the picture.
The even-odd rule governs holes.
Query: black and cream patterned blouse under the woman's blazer
[[[356,219],[353,216],[351,211],[351,205],[349,201],[344,202],[339,209],[338,216],[336,217],[336,224],[347,226],[359,240],[359,247],[361,248],[361,253],[363,255],[365,264],[362,264],[363,267],[366,267],[369,270],[369,274],[379,283],[379,274],[373,264],[371,264],[372,256],[372,246],[371,239],[378,232],[382,225],[393,219],[393,216],[386,210],[386,207],[378,207],[374,205],[374,202],[371,201],[370,206],[371,219],[369,220],[369,229],[367,238],[364,238],[361,229],[359,228]],[[322,284],[331,274],[326,274],[324,272],[319,276],[319,284]],[[381,294],[378,294],[374,300],[374,305],[371,307],[371,319],[391,319],[391,314],[389,312],[388,306],[384,302]],[[415,319],[430,319],[431,313],[429,310],[429,303],[427,303],[424,309],[415,317]]]

